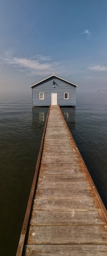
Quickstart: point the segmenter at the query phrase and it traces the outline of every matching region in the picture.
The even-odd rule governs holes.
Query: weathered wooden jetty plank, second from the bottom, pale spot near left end
[[[105,225],[30,226],[28,244],[107,244]]]

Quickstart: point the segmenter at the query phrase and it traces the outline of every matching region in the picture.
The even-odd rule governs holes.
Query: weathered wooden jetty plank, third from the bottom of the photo
[[[106,225],[101,210],[37,211],[33,210],[31,225]]]

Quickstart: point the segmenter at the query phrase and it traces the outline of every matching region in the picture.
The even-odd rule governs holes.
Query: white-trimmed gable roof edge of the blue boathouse
[[[47,78],[45,78],[45,79],[43,79],[43,80],[41,80],[41,81],[39,81],[39,82],[33,84],[33,86],[30,86],[30,87],[32,88],[32,87],[34,87],[34,86],[39,86],[41,83],[46,82],[46,81],[48,81],[48,80],[50,80],[50,79],[53,79],[53,78],[55,78],[55,79],[58,78],[59,80],[61,80],[61,81],[63,81],[63,82],[66,82],[66,83],[70,84],[71,86],[73,86],[73,87],[75,87],[75,88],[77,87],[76,84],[74,84],[74,83],[72,83],[72,82],[69,82],[69,81],[67,81],[67,80],[65,80],[65,79],[63,79],[63,78],[61,78],[61,77],[59,77],[59,76],[56,76],[56,75],[51,75],[51,76],[49,76],[49,77],[47,77]]]

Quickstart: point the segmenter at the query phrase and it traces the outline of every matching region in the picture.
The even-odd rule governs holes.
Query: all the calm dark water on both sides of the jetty
[[[77,93],[63,115],[107,208],[107,93]],[[15,256],[48,108],[30,94],[0,97],[0,255]]]

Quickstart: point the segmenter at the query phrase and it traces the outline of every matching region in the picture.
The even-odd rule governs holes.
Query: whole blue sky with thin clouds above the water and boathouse
[[[107,90],[106,0],[0,0],[0,90],[29,91],[54,72]]]

